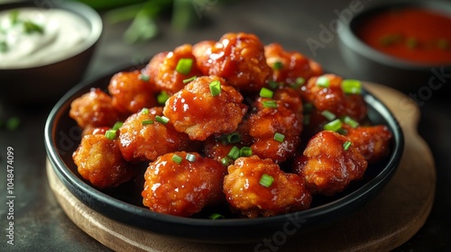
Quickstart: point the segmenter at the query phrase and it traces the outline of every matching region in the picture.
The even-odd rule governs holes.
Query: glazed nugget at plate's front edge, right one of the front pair
[[[308,209],[311,194],[299,175],[285,173],[271,159],[239,157],[228,166],[224,193],[232,211],[249,218]]]

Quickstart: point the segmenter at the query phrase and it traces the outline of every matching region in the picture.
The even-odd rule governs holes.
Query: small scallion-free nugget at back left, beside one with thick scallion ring
[[[141,70],[116,73],[108,85],[113,96],[113,106],[123,113],[139,112],[143,108],[157,105],[156,91]]]

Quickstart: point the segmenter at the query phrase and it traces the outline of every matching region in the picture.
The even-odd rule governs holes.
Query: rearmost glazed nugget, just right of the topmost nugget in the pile
[[[318,63],[311,63],[310,58],[297,51],[286,51],[279,43],[264,47],[266,63],[272,67],[272,80],[288,85],[302,85],[311,76],[322,74]]]

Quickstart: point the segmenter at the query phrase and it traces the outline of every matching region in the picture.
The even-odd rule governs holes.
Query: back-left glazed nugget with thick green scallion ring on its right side
[[[183,88],[183,80],[201,75],[190,44],[157,54],[151,59],[146,71],[152,82],[168,94],[175,94]]]

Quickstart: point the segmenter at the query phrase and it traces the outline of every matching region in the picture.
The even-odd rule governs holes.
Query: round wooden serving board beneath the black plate
[[[116,251],[387,251],[411,238],[432,208],[436,171],[428,145],[419,137],[419,109],[389,87],[365,84],[400,122],[405,148],[400,167],[382,193],[352,217],[325,229],[289,238],[277,247],[210,245],[163,237],[110,220],[69,193],[47,164],[51,190],[63,211],[89,236]]]

